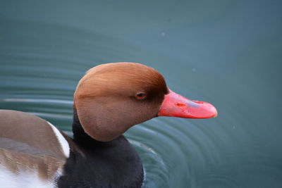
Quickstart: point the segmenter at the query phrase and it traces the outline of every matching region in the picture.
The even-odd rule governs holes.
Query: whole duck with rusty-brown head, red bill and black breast
[[[142,161],[126,130],[158,116],[217,115],[212,104],[173,92],[141,63],[90,68],[73,99],[73,137],[35,115],[0,110],[1,187],[141,187]]]

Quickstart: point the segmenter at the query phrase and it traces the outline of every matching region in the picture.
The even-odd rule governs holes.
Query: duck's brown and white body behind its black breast
[[[35,115],[0,110],[0,187],[55,187],[69,156],[59,130]]]

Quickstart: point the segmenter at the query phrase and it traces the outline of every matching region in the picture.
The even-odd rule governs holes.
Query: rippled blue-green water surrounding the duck
[[[144,187],[282,187],[281,1],[1,1],[0,108],[71,135],[75,86],[133,61],[219,111],[155,118],[125,136]]]

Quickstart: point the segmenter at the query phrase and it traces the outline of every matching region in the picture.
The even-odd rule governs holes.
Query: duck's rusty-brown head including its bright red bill
[[[107,63],[88,70],[75,90],[74,108],[83,130],[102,142],[157,116],[217,115],[212,104],[172,92],[160,73],[140,63]]]

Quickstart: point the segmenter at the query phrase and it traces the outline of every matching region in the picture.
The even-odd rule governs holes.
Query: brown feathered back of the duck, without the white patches
[[[54,177],[66,163],[61,144],[47,121],[19,111],[0,110],[0,166],[12,173]]]

